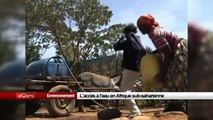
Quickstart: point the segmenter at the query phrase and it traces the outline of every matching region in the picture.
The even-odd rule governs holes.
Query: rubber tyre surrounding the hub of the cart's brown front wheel
[[[49,92],[72,92],[72,90],[65,85],[58,85],[50,89]],[[70,100],[69,104],[66,106],[66,109],[60,109],[56,105],[56,100],[46,100],[46,107],[48,112],[55,117],[68,116],[75,108],[75,100]]]

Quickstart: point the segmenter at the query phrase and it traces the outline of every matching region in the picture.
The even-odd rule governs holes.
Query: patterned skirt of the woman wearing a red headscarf
[[[173,52],[173,59],[168,67],[166,80],[170,88],[186,88],[188,71],[188,42],[182,39]]]

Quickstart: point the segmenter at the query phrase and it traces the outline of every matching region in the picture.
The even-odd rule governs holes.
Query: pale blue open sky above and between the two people
[[[100,0],[100,2],[112,10],[113,16],[109,25],[136,24],[141,15],[149,13],[156,18],[160,26],[180,37],[187,37],[187,0]],[[141,37],[144,46],[155,49],[147,35],[142,35],[140,32],[137,34]],[[55,49],[52,47],[42,58],[54,55]]]

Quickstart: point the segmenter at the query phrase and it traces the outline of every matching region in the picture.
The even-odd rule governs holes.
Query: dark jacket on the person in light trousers
[[[146,54],[146,50],[141,44],[140,37],[133,32],[127,34],[126,40],[120,39],[113,47],[115,51],[123,50],[122,68],[139,71],[141,58]]]

